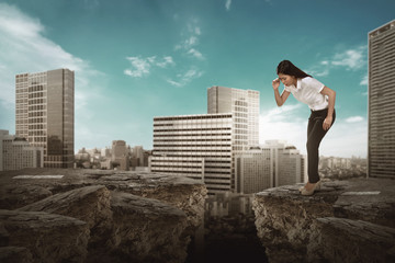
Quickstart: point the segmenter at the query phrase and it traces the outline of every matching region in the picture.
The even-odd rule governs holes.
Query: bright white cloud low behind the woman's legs
[[[260,115],[260,144],[266,140],[286,140],[306,155],[306,133],[308,112],[303,116],[300,104],[285,108],[272,108]],[[303,105],[302,105],[303,106]],[[303,117],[300,117],[303,116]],[[323,156],[366,157],[368,125],[360,116],[347,119],[337,118],[321,141],[319,152]]]

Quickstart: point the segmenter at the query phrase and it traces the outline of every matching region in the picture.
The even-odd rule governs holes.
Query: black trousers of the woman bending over
[[[328,130],[324,130],[323,123],[327,111],[312,112],[307,126],[307,173],[308,182],[316,183],[319,181],[318,162],[319,162],[319,144]],[[334,112],[335,123],[336,114]]]

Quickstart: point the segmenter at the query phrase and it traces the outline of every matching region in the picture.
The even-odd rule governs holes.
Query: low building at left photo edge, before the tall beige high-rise
[[[31,146],[25,138],[0,129],[0,171],[42,168],[43,151],[42,147]]]

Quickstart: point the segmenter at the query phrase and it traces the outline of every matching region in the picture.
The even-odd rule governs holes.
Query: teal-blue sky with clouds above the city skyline
[[[154,116],[204,114],[212,85],[260,91],[260,141],[305,153],[309,110],[276,107],[283,59],[337,91],[320,153],[365,157],[368,33],[393,0],[0,0],[0,128],[15,132],[14,76],[76,75],[76,151],[153,147]],[[283,89],[283,87],[281,87]]]

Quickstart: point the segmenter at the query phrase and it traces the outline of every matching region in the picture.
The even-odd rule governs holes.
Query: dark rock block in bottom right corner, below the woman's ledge
[[[317,218],[316,236],[307,250],[309,262],[395,262],[395,229],[362,220]]]

